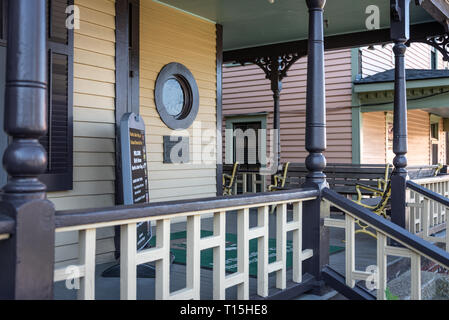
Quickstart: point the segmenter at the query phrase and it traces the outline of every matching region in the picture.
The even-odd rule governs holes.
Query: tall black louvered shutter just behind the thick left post
[[[39,179],[48,191],[73,188],[73,30],[66,8],[73,0],[47,0],[48,132],[40,139],[48,153]]]

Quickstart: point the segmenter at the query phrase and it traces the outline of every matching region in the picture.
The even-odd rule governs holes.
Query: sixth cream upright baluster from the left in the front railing
[[[239,300],[249,299],[249,209],[237,213],[237,272],[244,275],[244,281],[237,287]]]

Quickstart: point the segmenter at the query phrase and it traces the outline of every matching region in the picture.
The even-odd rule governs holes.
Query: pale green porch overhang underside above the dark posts
[[[306,53],[308,9],[298,0],[153,0],[223,26],[224,62],[261,54]],[[449,4],[415,1],[410,6],[411,38],[444,34]],[[379,28],[368,30],[369,7],[379,9]],[[437,21],[437,22],[436,22]],[[327,0],[324,10],[327,49],[367,46],[391,41],[390,2]]]

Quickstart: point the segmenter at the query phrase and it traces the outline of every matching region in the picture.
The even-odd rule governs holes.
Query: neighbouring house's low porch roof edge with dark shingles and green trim
[[[407,70],[407,109],[449,118],[449,70]],[[354,82],[361,112],[393,110],[394,70]]]

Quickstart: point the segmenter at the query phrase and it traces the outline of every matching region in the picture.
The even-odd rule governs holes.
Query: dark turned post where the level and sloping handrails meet
[[[309,42],[307,55],[306,101],[306,158],[308,174],[305,187],[322,190],[327,186],[326,158],[326,96],[324,78],[323,10],[326,0],[306,0],[309,8]],[[324,218],[329,216],[329,206],[321,199],[304,203],[303,247],[313,249],[313,257],[304,261],[304,270],[318,280],[322,287],[321,269],[329,263],[329,232]]]

